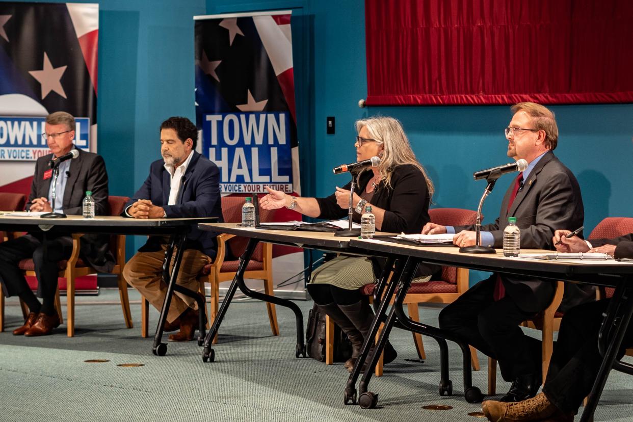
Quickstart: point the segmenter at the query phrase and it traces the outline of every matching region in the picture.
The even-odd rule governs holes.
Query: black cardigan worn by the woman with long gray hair
[[[370,170],[358,175],[356,194],[360,195],[365,191],[372,177],[373,172]],[[349,190],[350,187],[351,181],[343,189]],[[334,194],[316,198],[316,202],[321,209],[318,218],[334,220],[348,216],[348,210],[339,207]],[[422,227],[430,221],[427,180],[422,171],[412,164],[396,166],[391,174],[391,186],[386,186],[384,182],[378,183],[373,190],[372,200],[368,203],[385,210],[381,232],[420,233]]]

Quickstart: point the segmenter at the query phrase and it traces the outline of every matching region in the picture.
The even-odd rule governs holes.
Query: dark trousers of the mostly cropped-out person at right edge
[[[589,302],[570,309],[561,321],[554,345],[548,378],[543,392],[565,413],[577,413],[596,380],[602,357],[598,352],[598,332],[610,300]],[[617,358],[633,345],[633,326],[629,325]]]

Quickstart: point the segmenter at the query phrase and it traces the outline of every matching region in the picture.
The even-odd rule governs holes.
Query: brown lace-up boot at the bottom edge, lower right
[[[493,422],[542,421],[561,414],[558,407],[554,406],[544,393],[522,402],[506,403],[486,400],[481,404],[481,409],[486,418]]]

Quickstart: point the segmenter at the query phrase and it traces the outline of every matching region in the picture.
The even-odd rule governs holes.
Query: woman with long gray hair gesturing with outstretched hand
[[[401,123],[391,117],[371,117],[356,121],[356,161],[380,158],[380,163],[358,174],[354,192],[353,220],[360,222],[365,204],[372,206],[376,229],[391,233],[420,233],[429,222],[429,204],[433,183],[422,164],[418,163],[404,134]],[[315,218],[344,218],[348,215],[351,182],[325,198],[294,197],[268,189],[260,199],[264,209],[286,207]],[[382,260],[356,256],[339,256],[318,267],[308,292],[315,303],[346,333],[353,345],[352,357],[345,363],[351,371],[360,354],[373,320],[373,311],[360,288],[376,281]],[[430,278],[430,269],[423,268],[423,278]],[[419,275],[419,271],[418,271]],[[423,281],[423,280],[417,280]],[[384,362],[397,356],[387,344]]]

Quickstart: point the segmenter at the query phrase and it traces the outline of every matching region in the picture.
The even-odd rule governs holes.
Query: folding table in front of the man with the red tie
[[[457,248],[437,248],[420,247],[415,245],[404,245],[385,240],[363,240],[353,239],[349,246],[352,249],[365,250],[368,254],[386,254],[392,257],[406,257],[405,270],[398,278],[398,292],[394,299],[394,305],[387,315],[384,330],[380,335],[372,360],[368,364],[363,378],[359,384],[361,407],[375,407],[377,404],[377,394],[367,390],[367,385],[372,377],[372,371],[377,363],[380,352],[384,348],[394,323],[399,321],[409,330],[422,334],[429,333],[429,327],[411,321],[404,313],[403,300],[413,279],[415,268],[418,264],[440,264],[453,265],[465,268],[472,268],[483,271],[496,271],[506,274],[527,275],[542,278],[544,280],[564,280],[568,282],[586,283],[605,287],[615,287],[615,293],[611,299],[610,306],[606,311],[603,324],[599,332],[598,349],[603,354],[603,362],[594,382],[589,400],[584,407],[580,421],[588,422],[593,418],[596,406],[605,387],[606,379],[611,368],[633,375],[633,366],[615,359],[618,349],[622,344],[622,338],[629,326],[631,314],[633,313],[633,263],[608,261],[553,261],[535,260],[523,258],[505,258],[501,251],[496,254],[463,254]],[[549,252],[551,251],[523,251],[523,252]],[[386,300],[385,300],[386,302]],[[385,306],[386,308],[386,306]],[[377,317],[372,325],[372,330],[368,338],[375,338],[377,334],[379,318]],[[433,333],[434,330],[431,330]],[[441,335],[441,333],[435,333]],[[448,337],[446,337],[448,338]],[[355,379],[360,374],[363,361],[367,357],[369,350],[368,341],[363,345],[363,352],[354,371],[350,376],[350,381],[346,388],[346,400],[355,398],[356,391],[353,390]],[[468,397],[468,391],[467,400]],[[473,393],[474,394],[474,393]],[[470,400],[468,400],[470,401]]]

